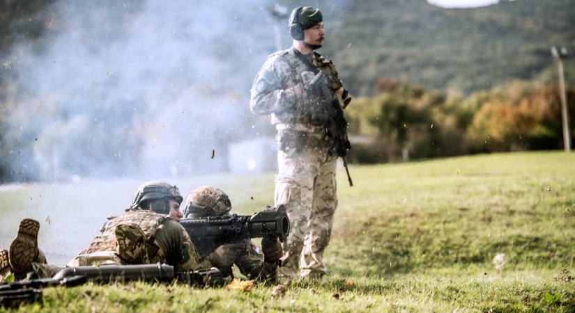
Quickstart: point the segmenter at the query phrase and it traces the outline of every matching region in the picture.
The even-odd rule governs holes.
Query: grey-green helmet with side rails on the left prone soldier
[[[182,203],[183,197],[176,186],[166,182],[146,182],[139,186],[129,209],[149,209],[160,214],[169,214],[169,200]]]

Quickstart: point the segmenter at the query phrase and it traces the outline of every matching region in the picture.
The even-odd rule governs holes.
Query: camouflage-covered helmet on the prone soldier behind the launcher
[[[231,210],[231,201],[221,189],[204,186],[192,191],[185,198],[183,215],[187,218],[219,216]]]

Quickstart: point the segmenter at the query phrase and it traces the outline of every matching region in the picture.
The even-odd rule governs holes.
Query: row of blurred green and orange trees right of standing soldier
[[[567,99],[573,118],[573,88]],[[357,99],[348,118],[355,141],[350,158],[359,163],[563,147],[558,86],[513,82],[447,97],[380,79],[374,96]]]

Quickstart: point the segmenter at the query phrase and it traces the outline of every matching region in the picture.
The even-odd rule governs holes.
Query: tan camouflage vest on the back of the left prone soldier
[[[127,211],[125,214],[116,216],[108,221],[102,234],[96,236],[90,243],[90,246],[80,252],[81,255],[96,251],[116,251],[116,226],[121,224],[139,225],[141,230],[146,234],[148,241],[153,239],[158,227],[164,223],[166,216],[154,213],[152,211],[134,210]]]

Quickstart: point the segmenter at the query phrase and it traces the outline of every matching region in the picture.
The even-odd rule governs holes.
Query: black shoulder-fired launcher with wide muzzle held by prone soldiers
[[[266,207],[252,216],[225,214],[205,218],[183,218],[180,224],[190,235],[199,254],[208,255],[224,243],[275,236],[284,242],[289,234],[289,218],[285,207]]]

